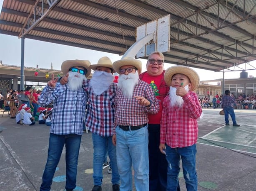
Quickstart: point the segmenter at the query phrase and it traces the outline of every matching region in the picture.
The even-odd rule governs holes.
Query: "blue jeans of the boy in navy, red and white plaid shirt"
[[[112,143],[112,136],[104,137],[92,133],[93,138],[93,182],[94,185],[101,186],[103,174],[102,164],[106,156],[106,147],[108,147],[108,157],[110,158],[112,168],[112,184],[119,184],[119,174],[116,163],[116,148]]]

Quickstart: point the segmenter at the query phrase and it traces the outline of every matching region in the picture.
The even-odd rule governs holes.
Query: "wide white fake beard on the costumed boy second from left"
[[[113,80],[114,76],[112,73],[96,70],[90,80],[89,87],[91,87],[93,93],[98,96],[108,90]]]

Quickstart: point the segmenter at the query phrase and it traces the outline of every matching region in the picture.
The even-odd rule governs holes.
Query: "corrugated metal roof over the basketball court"
[[[4,0],[0,33],[20,36],[33,7],[42,10],[42,1],[45,12],[47,0],[37,5],[36,0]],[[25,38],[123,54],[136,42],[136,27],[170,14],[165,62],[220,71],[256,60],[256,0],[57,2]]]

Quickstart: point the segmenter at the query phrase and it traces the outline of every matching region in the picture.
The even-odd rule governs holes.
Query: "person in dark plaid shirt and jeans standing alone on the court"
[[[237,125],[236,123],[236,115],[233,108],[234,103],[235,103],[235,99],[232,96],[230,96],[230,91],[226,90],[225,95],[222,97],[222,101],[221,101],[221,105],[225,114],[225,123],[226,125],[229,125],[229,120],[228,120],[228,114],[229,114],[233,121],[233,126],[239,127],[240,125]]]

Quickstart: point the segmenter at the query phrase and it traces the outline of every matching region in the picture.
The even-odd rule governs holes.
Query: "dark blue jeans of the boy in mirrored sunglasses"
[[[48,158],[43,173],[43,182],[40,191],[50,191],[53,175],[60,161],[61,153],[65,144],[66,148],[66,186],[65,189],[73,190],[76,187],[76,174],[78,154],[82,135],[56,135],[50,133]]]

